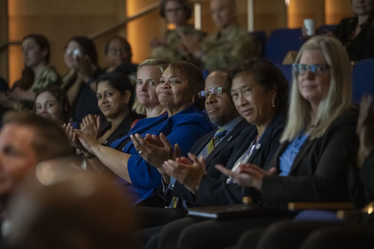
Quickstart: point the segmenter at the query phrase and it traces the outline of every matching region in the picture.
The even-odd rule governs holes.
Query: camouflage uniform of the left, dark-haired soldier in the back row
[[[193,25],[186,25],[182,28],[182,32],[185,35],[195,36],[201,42],[205,36],[205,33],[196,30]],[[158,46],[152,49],[150,59],[166,59],[169,61],[181,61],[186,60],[187,52],[181,49],[182,41],[176,30],[168,30],[165,33],[163,41],[166,43],[163,46]]]

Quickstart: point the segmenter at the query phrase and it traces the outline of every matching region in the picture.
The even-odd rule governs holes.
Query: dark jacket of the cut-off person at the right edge
[[[374,151],[371,151],[361,169],[352,165],[349,172],[349,190],[356,207],[362,208],[374,201]]]

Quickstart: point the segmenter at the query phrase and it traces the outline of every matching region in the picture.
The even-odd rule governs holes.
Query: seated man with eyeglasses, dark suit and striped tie
[[[205,109],[209,119],[218,126],[217,129],[200,138],[191,149],[190,158],[204,160],[205,167],[193,167],[189,162],[191,167],[174,170],[174,174],[186,180],[196,181],[197,185],[205,174],[215,179],[220,178],[221,173],[215,169],[214,165],[226,165],[234,153],[241,131],[250,125],[239,116],[228,96],[230,93],[225,91],[228,71],[228,69],[223,69],[210,73],[205,81],[205,89],[199,93],[200,98],[205,98]],[[165,207],[169,208],[141,208],[142,216],[147,223],[144,227],[149,229],[140,231],[139,238],[144,243],[156,234],[151,237],[145,248],[156,248],[157,233],[162,225],[186,216],[184,208],[196,206],[194,194],[174,177],[163,172],[162,182],[163,186],[159,190],[159,195],[165,200]]]

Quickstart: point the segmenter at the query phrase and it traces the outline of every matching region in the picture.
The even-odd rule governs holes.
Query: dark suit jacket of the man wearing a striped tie
[[[237,142],[240,139],[240,134],[243,129],[255,129],[255,127],[249,124],[245,119],[242,119],[239,123],[236,124],[234,129],[229,132],[225,137],[224,140],[221,141],[217,147],[209,154],[208,157],[205,159],[205,166],[206,166],[206,173],[213,179],[218,179],[221,176],[221,173],[215,169],[214,165],[216,164],[226,164],[229,160],[230,156],[234,153],[234,149],[236,148]],[[205,146],[209,143],[209,141],[214,136],[215,132],[218,129],[209,132],[202,138],[200,138],[192,147],[191,153],[194,155],[198,155]],[[170,191],[171,192],[171,191]],[[160,191],[162,193],[162,191]],[[170,193],[168,193],[170,194]],[[175,196],[186,200],[187,206],[195,206],[194,203],[194,195],[184,187],[183,184],[176,181],[171,196]],[[166,199],[171,200],[171,196],[166,195]],[[168,201],[166,201],[167,205]]]

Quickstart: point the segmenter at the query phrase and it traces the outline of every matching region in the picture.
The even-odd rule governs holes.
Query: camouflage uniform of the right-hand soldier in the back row
[[[209,71],[258,57],[262,50],[260,40],[239,26],[233,27],[229,34],[217,32],[206,37],[201,48],[204,55],[201,67]]]

